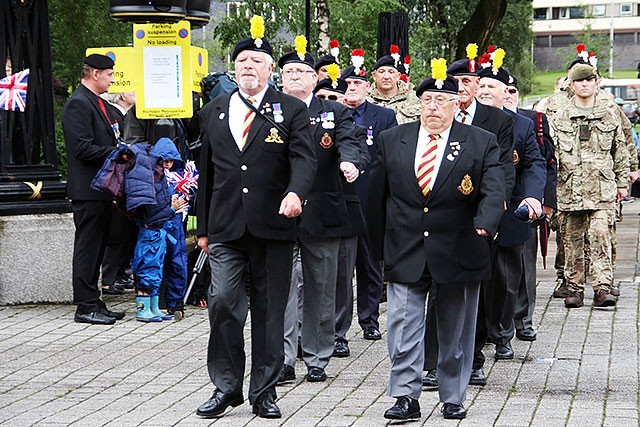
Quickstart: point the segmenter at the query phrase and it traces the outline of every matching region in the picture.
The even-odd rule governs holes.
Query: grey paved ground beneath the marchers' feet
[[[515,358],[493,359],[485,346],[484,387],[470,386],[469,414],[444,420],[438,394],[424,391],[422,417],[411,426],[639,426],[638,231],[640,201],[624,205],[618,223],[616,307],[567,310],[553,299],[554,242],[547,268],[538,266],[534,324],[538,339],[512,344]],[[552,235],[552,240],[555,235]],[[189,307],[180,322],[135,320],[132,293],[106,296],[127,312],[113,326],[73,322],[72,305],[0,307],[0,425],[2,426],[382,426],[394,403],[386,395],[389,357],[386,304],[380,341],[366,341],[354,320],[351,356],[333,358],[326,382],[297,379],[278,387],[279,420],[257,418],[247,402],[219,419],[195,414],[212,391],[206,370],[206,309]],[[247,322],[249,326],[250,320]],[[249,328],[245,329],[247,366]],[[245,378],[245,395],[248,377]]]

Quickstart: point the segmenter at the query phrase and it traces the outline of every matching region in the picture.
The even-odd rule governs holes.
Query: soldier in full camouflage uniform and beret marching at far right
[[[629,150],[619,117],[596,97],[593,67],[573,68],[574,96],[550,117],[558,159],[558,216],[565,253],[567,308],[584,305],[585,242],[588,242],[594,305],[615,305],[612,235],[616,201],[627,195]]]

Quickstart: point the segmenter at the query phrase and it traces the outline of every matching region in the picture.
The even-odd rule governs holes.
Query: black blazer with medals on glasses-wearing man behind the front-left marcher
[[[351,236],[340,162],[359,167],[360,143],[353,118],[344,105],[315,96],[309,117],[318,169],[302,210],[302,226],[314,237]]]

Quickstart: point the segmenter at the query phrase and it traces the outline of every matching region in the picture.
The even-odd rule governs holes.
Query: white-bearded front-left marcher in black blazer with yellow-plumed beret
[[[284,359],[295,217],[313,184],[316,156],[304,103],[267,84],[272,52],[262,37],[238,42],[232,58],[239,90],[214,99],[200,113],[197,235],[211,266],[207,367],[216,389],[197,414],[207,418],[244,401],[246,271],[249,402],[259,417],[281,417],[275,385]]]

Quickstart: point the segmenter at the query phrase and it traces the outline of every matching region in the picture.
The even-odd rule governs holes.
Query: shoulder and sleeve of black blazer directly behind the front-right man
[[[513,119],[499,108],[481,104],[477,100],[476,105],[476,114],[471,124],[491,132],[498,139],[505,183],[504,200],[509,203],[511,190],[516,183],[516,171],[513,167]]]

